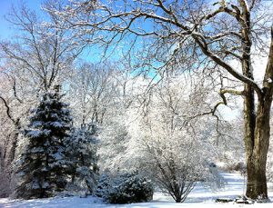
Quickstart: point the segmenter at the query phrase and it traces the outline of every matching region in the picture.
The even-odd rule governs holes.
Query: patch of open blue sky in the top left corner
[[[24,0],[25,4],[36,11],[40,10],[44,0]],[[5,21],[5,15],[10,11],[12,5],[20,5],[20,0],[0,0],[0,38],[8,38],[14,34],[8,22]]]

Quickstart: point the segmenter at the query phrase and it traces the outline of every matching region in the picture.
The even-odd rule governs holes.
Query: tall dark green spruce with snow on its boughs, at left
[[[72,118],[61,97],[59,86],[55,92],[44,94],[29,118],[24,131],[28,144],[16,171],[16,198],[45,198],[65,189],[70,163],[66,160],[65,139],[70,134]]]

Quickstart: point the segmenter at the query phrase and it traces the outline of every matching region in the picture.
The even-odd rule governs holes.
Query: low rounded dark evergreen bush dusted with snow
[[[153,185],[138,173],[123,173],[113,179],[104,175],[98,184],[96,195],[107,203],[144,203],[153,198]]]

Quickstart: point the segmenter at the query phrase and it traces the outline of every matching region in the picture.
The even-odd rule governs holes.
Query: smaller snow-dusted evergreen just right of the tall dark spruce
[[[82,125],[66,138],[70,159],[71,187],[76,193],[91,194],[98,180],[96,125]]]

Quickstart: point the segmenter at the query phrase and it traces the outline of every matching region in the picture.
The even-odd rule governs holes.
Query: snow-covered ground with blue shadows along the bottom
[[[208,188],[204,188],[201,184],[197,184],[196,188],[187,197],[185,203],[174,203],[173,200],[162,193],[155,193],[154,200],[150,203],[131,203],[131,204],[106,204],[95,197],[65,197],[65,198],[49,198],[27,201],[11,201],[7,198],[0,199],[0,207],[24,208],[24,207],[43,207],[43,208],[99,208],[99,207],[128,207],[128,208],[213,208],[213,207],[253,207],[256,208],[273,207],[273,203],[255,203],[255,204],[238,204],[238,203],[215,203],[217,198],[236,198],[244,192],[244,179],[236,173],[222,173],[227,180],[227,185],[223,190],[212,193]],[[273,202],[273,187],[269,184],[269,197]]]

